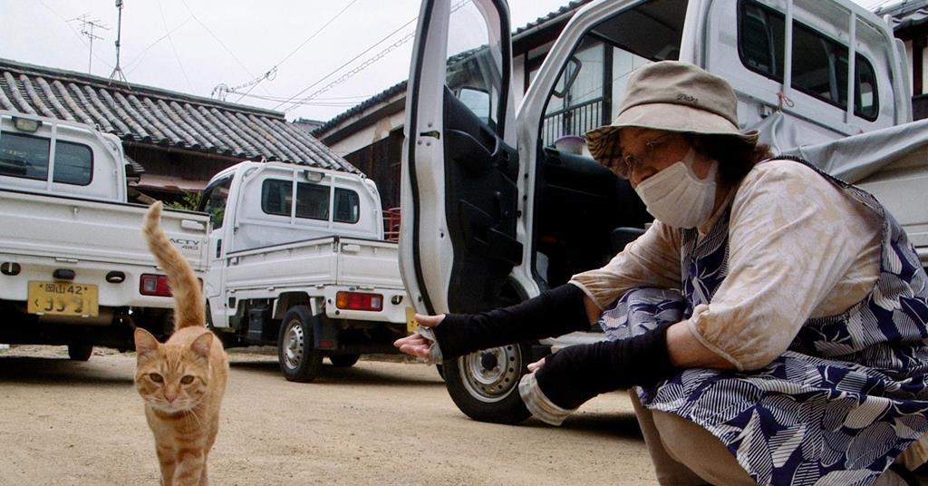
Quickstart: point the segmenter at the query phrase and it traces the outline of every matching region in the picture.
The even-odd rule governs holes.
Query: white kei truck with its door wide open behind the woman
[[[540,66],[532,53],[515,59],[518,75],[504,0],[423,0],[418,29],[400,268],[419,312],[535,296],[640,233],[651,217],[630,186],[554,142],[611,121],[627,75],[664,59],[728,79],[743,130],[869,190],[928,264],[928,122],[911,121],[904,46],[849,0],[595,0]],[[532,83],[516,107],[522,79]],[[446,360],[445,384],[471,418],[515,423],[528,416],[516,391],[527,363],[602,338],[574,333]]]

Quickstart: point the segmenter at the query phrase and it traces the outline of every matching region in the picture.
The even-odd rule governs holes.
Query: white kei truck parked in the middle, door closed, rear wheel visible
[[[323,357],[398,352],[409,301],[372,180],[242,162],[211,179],[200,211],[212,220],[207,320],[226,347],[277,346],[281,372],[302,382]]]

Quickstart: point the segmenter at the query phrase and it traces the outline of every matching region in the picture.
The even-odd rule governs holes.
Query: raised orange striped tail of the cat
[[[202,326],[206,323],[206,312],[200,281],[194,274],[187,258],[181,255],[167,235],[161,230],[161,201],[156,201],[145,214],[142,227],[148,249],[155,261],[164,269],[174,295],[174,327]]]

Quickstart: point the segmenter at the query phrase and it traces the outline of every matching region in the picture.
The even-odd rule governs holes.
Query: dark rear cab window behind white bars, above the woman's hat
[[[751,71],[782,82],[785,14],[752,0],[741,0],[738,17],[741,63]],[[791,85],[834,106],[846,108],[848,50],[844,44],[794,21]],[[876,120],[880,111],[876,73],[870,60],[859,53],[855,56],[855,77],[854,114]]]

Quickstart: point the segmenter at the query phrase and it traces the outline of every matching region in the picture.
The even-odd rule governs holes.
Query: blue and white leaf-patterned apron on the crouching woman
[[[638,396],[707,429],[758,484],[869,485],[928,431],[926,276],[873,196],[809,166],[883,217],[881,271],[870,294],[840,315],[806,321],[762,369],[690,369],[639,387]],[[711,302],[728,271],[728,217],[699,242],[695,229],[682,231],[683,298],[673,290],[628,292],[603,315],[606,334],[638,335]]]

